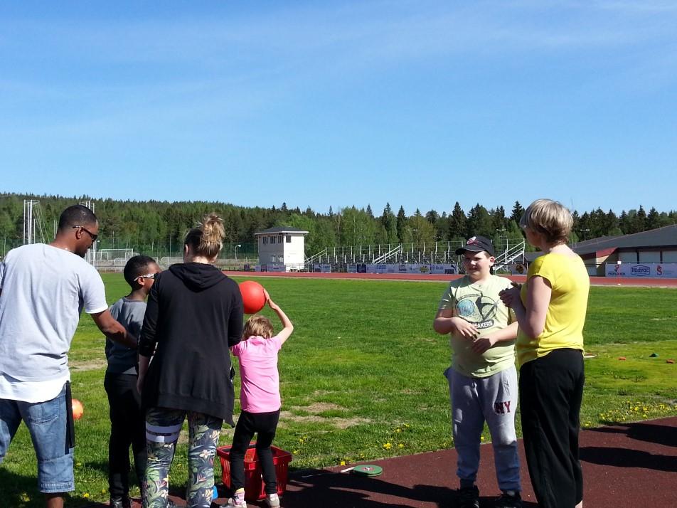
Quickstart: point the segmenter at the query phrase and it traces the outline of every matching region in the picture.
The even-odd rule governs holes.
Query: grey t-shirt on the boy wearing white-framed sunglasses
[[[127,329],[129,334],[139,340],[141,329],[144,326],[146,302],[129,300],[129,298],[123,297],[110,307],[110,314]],[[106,339],[106,358],[108,359],[106,372],[111,374],[137,374],[137,365],[139,364],[137,349]]]

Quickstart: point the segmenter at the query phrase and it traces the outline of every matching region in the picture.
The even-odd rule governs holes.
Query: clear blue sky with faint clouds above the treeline
[[[0,4],[0,192],[676,208],[677,2]]]

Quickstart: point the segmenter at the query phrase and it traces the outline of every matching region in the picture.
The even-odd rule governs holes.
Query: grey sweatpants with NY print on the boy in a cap
[[[496,480],[501,490],[521,491],[515,434],[517,371],[514,366],[486,378],[445,372],[452,404],[452,429],[458,454],[457,475],[463,486],[474,483],[479,467],[479,444],[484,422],[494,445]]]

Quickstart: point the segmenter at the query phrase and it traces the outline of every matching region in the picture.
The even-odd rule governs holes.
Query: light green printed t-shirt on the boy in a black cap
[[[511,287],[510,280],[491,275],[486,282],[473,283],[466,275],[452,280],[442,294],[439,309],[453,309],[454,315],[472,323],[484,337],[497,329],[505,328],[514,321],[499,292]],[[452,369],[464,376],[484,378],[515,364],[515,341],[499,342],[484,354],[471,350],[472,339],[449,334],[452,348]]]

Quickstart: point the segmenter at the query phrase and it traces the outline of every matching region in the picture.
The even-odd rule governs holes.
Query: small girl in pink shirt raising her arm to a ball
[[[277,476],[270,445],[275,437],[279,420],[279,375],[277,351],[294,331],[287,314],[282,312],[270,295],[265,292],[268,306],[282,322],[282,331],[273,336],[272,324],[267,317],[253,315],[245,323],[240,343],[230,348],[240,361],[240,404],[242,413],[238,418],[230,448],[230,480],[235,494],[227,506],[246,507],[245,502],[245,452],[257,434],[256,453],[259,457],[266,502],[269,507],[279,507]]]

